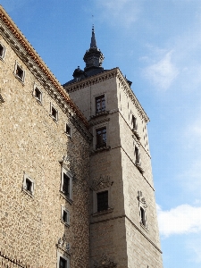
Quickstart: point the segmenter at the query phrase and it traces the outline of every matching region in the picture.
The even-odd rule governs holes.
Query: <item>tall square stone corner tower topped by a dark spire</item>
[[[63,85],[86,116],[90,147],[90,267],[162,268],[147,113],[119,68],[104,70],[94,28],[86,67]]]

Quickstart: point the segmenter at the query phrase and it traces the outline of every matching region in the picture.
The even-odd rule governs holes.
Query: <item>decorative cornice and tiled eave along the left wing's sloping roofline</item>
[[[88,128],[88,121],[80,112],[79,108],[71,101],[70,96],[63,90],[59,81],[56,80],[53,73],[48,69],[46,63],[40,58],[34,48],[29,44],[28,40],[23,36],[20,29],[14,24],[12,19],[5,13],[0,5],[0,31],[6,41],[13,47],[16,54],[28,66],[29,70],[34,72],[41,84],[49,91],[51,96],[67,110],[70,107],[71,113],[75,113],[85,127]]]

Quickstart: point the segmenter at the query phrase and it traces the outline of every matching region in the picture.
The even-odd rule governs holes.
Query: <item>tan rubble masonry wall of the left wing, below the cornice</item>
[[[0,42],[5,46],[0,61],[0,249],[31,268],[55,268],[59,252],[70,258],[71,268],[87,268],[88,142],[4,38]],[[25,71],[24,84],[13,74],[16,61]],[[43,93],[42,104],[32,95],[34,83]],[[49,114],[50,103],[58,121]],[[72,137],[65,133],[66,123]],[[74,174],[72,202],[60,193],[63,155]],[[25,173],[34,180],[34,196],[22,189]],[[70,212],[70,226],[61,221],[62,205]],[[63,233],[71,255],[57,248]]]

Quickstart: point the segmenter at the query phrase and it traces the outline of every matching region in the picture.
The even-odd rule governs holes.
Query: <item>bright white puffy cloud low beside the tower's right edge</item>
[[[164,237],[201,231],[201,207],[179,205],[163,211],[157,206],[157,213],[159,230]]]

